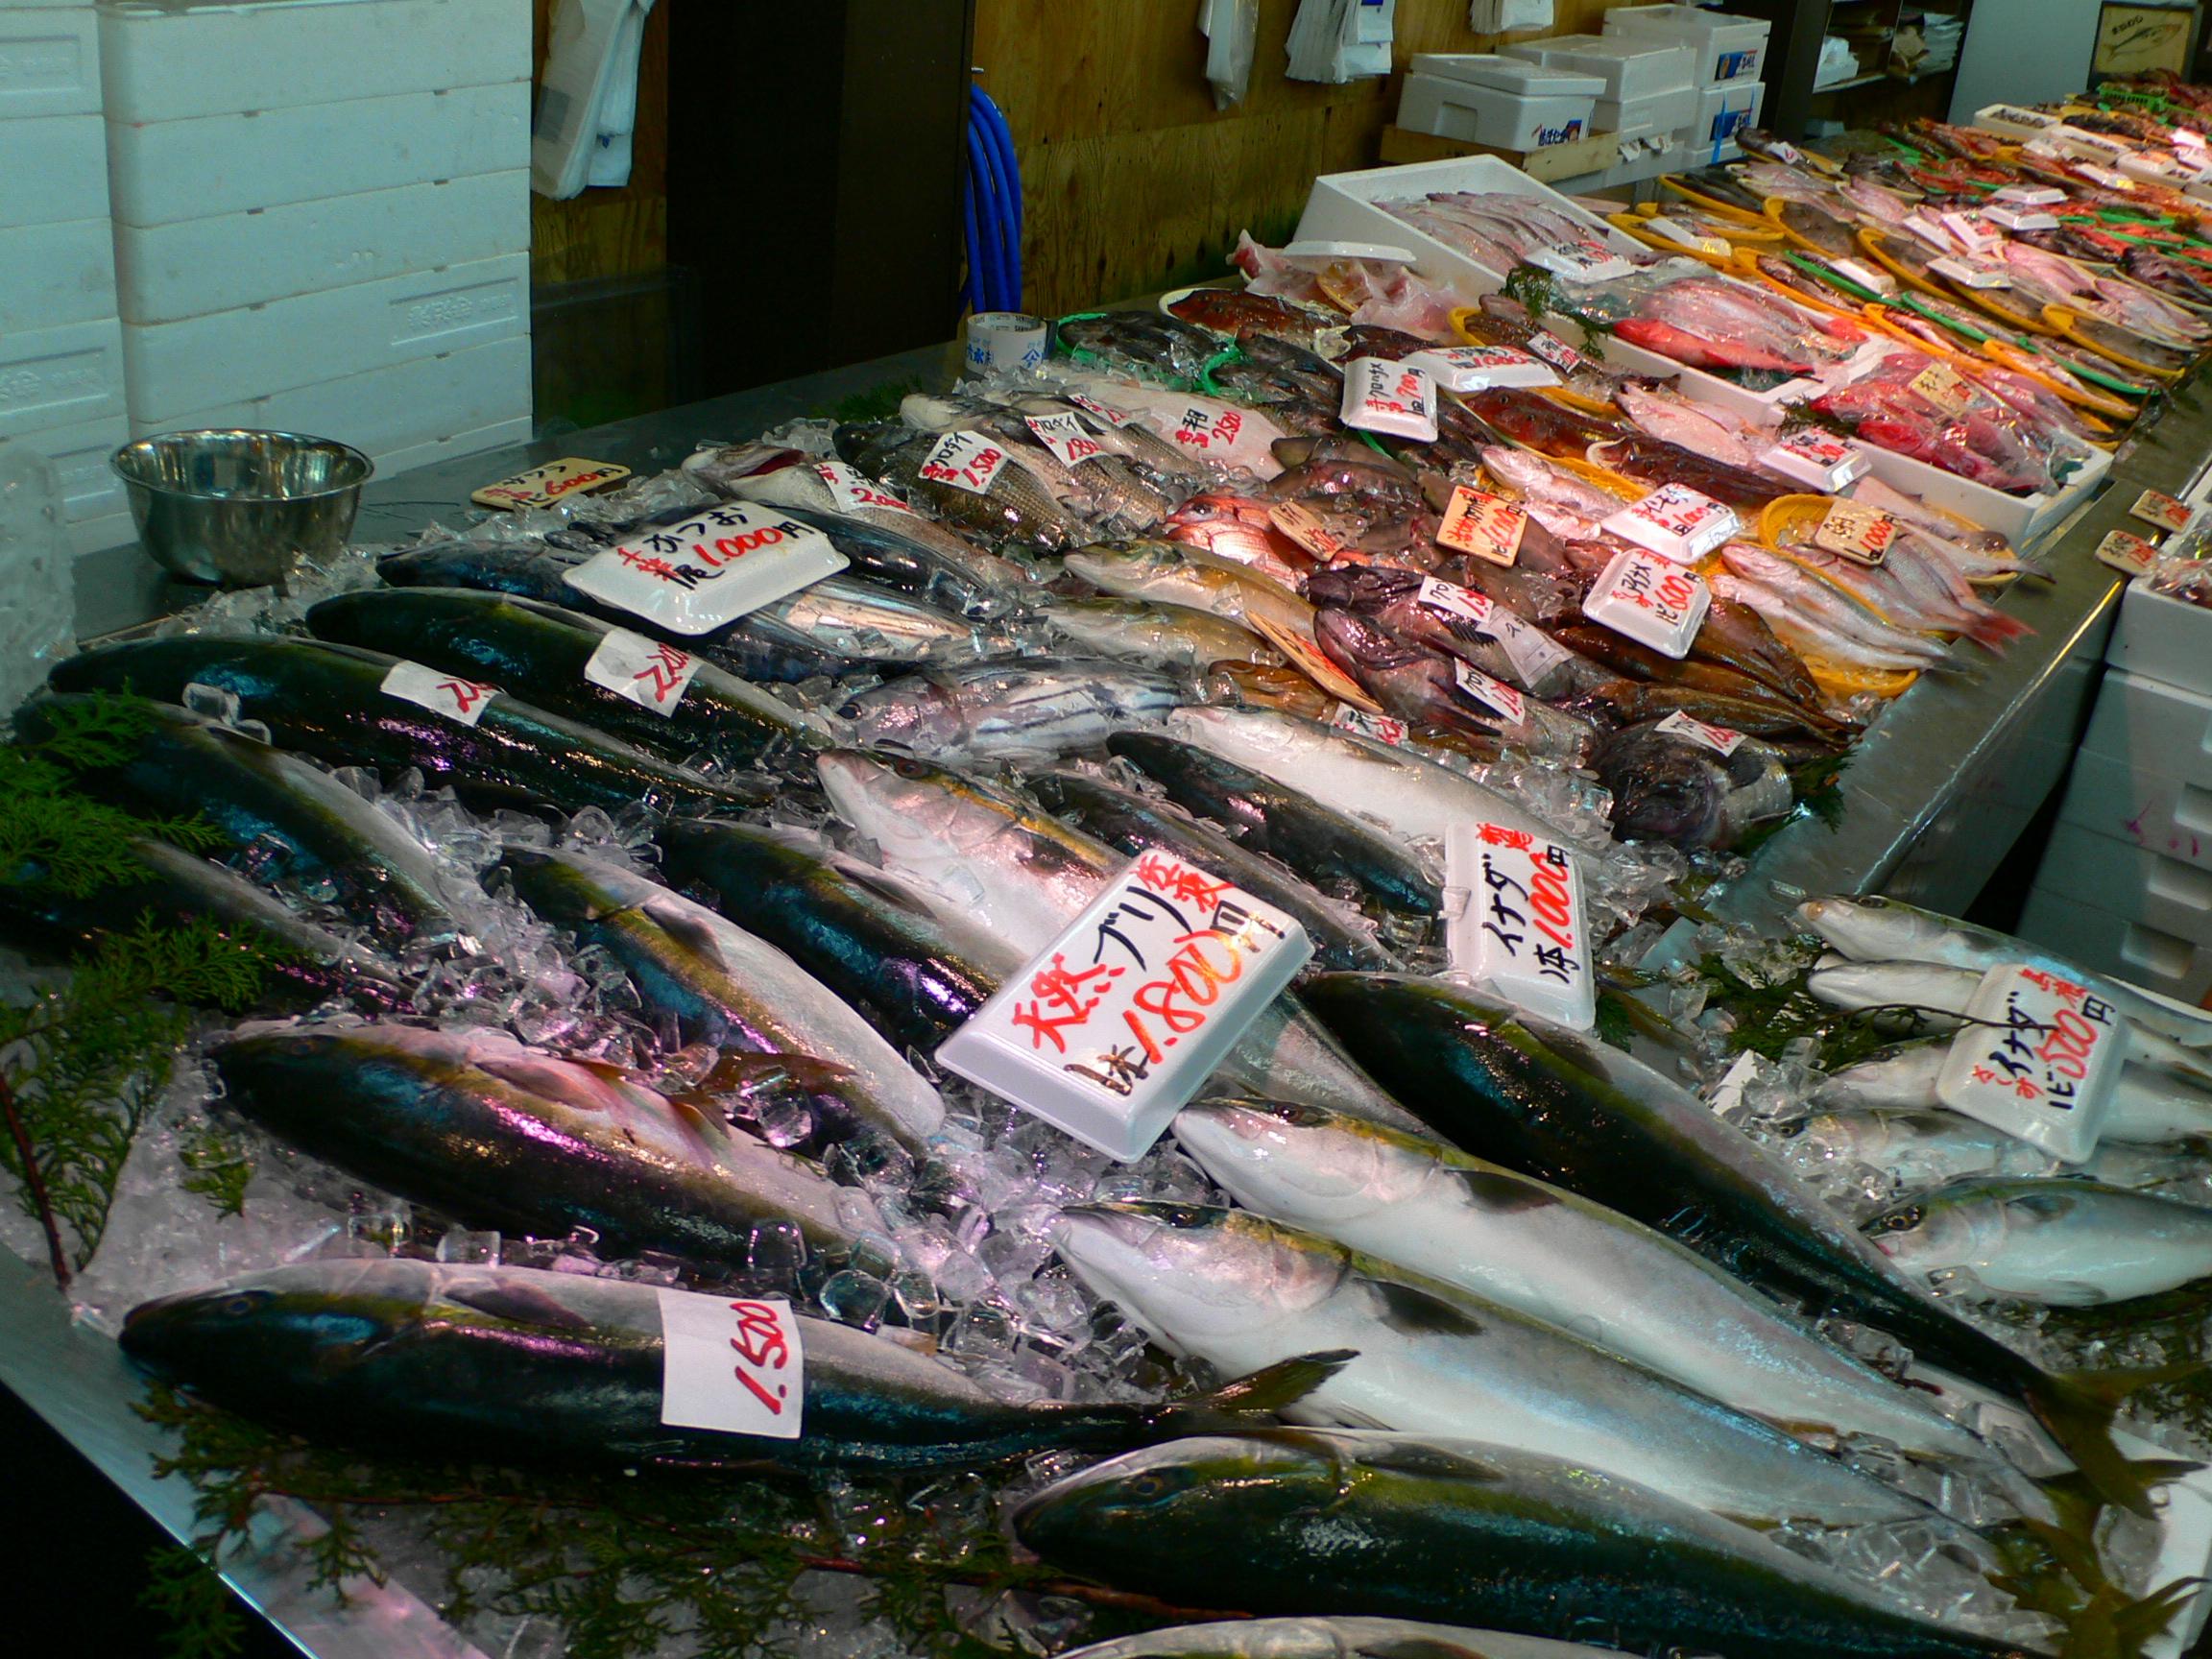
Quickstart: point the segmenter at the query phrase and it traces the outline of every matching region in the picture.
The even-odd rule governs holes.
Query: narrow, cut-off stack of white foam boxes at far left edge
[[[93,7],[0,9],[0,447],[53,458],[75,551],[128,540],[108,456],[124,422]]]

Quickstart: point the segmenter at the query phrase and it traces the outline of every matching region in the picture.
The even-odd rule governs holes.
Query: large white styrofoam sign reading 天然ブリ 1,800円
[[[1296,918],[1146,852],[945,1040],[938,1062],[1130,1161],[1312,953]]]

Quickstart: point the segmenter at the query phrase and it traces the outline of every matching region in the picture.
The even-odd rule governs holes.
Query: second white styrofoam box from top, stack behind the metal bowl
[[[188,122],[108,122],[115,223],[161,226],[526,168],[531,84],[352,97]]]

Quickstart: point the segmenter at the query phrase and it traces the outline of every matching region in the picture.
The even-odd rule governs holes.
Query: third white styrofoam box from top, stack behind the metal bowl
[[[531,175],[515,168],[263,212],[115,226],[115,281],[126,323],[170,323],[529,246]]]

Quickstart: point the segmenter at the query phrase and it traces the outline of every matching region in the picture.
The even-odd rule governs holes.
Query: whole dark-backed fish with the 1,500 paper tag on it
[[[1219,1433],[1329,1360],[1164,1405],[1006,1405],[942,1360],[794,1314],[796,1440],[661,1422],[653,1285],[431,1261],[310,1261],[164,1296],[122,1347],[197,1394],[316,1440],[522,1462],[973,1469],[1046,1449]]]

